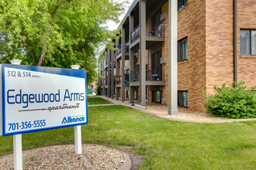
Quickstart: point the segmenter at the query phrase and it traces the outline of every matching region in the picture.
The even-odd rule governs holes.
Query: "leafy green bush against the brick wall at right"
[[[246,90],[245,83],[233,83],[231,87],[217,88],[214,95],[207,95],[204,92],[203,97],[206,98],[204,107],[217,117],[228,118],[253,118],[256,117],[256,91],[255,87]]]

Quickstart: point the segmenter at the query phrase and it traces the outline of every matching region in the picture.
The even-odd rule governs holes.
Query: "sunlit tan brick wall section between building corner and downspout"
[[[233,0],[206,0],[206,91],[234,81]]]

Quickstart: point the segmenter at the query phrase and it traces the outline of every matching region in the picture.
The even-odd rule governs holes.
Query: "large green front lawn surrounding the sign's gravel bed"
[[[192,124],[162,120],[123,106],[89,107],[82,141],[133,146],[141,169],[256,169],[256,121]],[[0,155],[12,136],[0,138]],[[74,142],[74,128],[22,134],[23,148]]]

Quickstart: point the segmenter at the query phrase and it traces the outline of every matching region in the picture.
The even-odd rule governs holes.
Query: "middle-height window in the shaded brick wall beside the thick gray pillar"
[[[178,41],[178,62],[188,59],[188,37]]]

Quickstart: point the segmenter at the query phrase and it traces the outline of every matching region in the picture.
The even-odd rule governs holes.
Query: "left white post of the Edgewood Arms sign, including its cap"
[[[12,59],[10,60],[12,64],[20,65],[22,60],[20,59]],[[14,134],[13,135],[13,161],[14,161],[14,169],[21,170],[22,169],[22,134]]]

